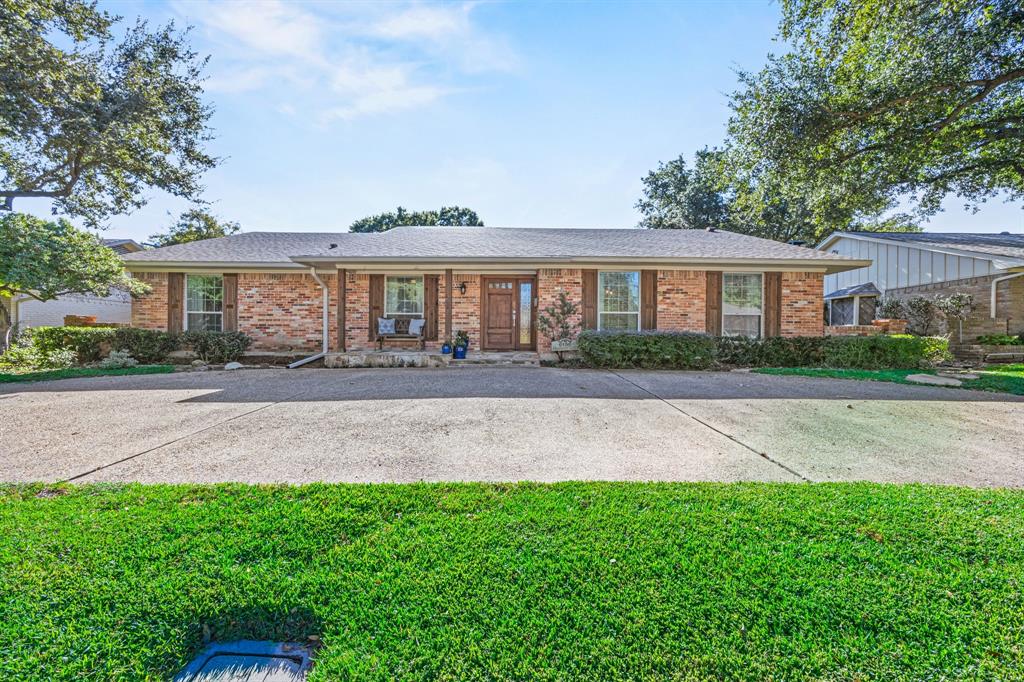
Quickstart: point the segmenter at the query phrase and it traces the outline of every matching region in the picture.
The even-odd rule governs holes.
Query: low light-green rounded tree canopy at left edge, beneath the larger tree
[[[0,294],[48,301],[63,294],[106,296],[112,288],[133,296],[148,291],[99,238],[68,220],[0,215]]]

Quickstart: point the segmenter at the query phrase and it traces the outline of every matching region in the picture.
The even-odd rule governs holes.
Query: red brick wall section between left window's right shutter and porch
[[[331,310],[336,275],[322,275],[328,286],[328,329],[337,344]],[[252,350],[315,352],[323,346],[323,290],[308,273],[239,274],[239,331],[252,337]]]

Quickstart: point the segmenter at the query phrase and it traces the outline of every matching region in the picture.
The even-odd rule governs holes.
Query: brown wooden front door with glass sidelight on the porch
[[[528,350],[535,343],[534,278],[485,276],[480,299],[483,350]]]

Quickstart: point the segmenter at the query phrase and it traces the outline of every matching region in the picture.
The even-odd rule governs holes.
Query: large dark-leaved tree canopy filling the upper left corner
[[[89,0],[0,0],[0,198],[53,200],[95,226],[146,203],[144,190],[198,200],[212,110],[206,60],[187,31],[151,31]]]

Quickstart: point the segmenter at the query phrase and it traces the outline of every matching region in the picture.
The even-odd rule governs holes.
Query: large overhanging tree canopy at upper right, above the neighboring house
[[[1024,197],[1020,0],[781,7],[791,51],[741,73],[732,96],[734,185],[799,200],[822,227],[906,227],[950,195]]]

